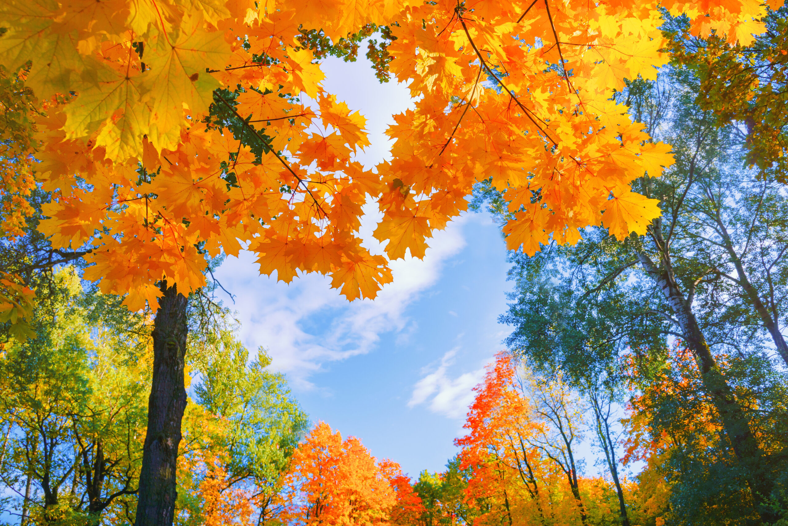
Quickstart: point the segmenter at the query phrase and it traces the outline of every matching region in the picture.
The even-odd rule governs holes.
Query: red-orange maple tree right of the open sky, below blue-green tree
[[[474,391],[467,435],[455,441],[470,471],[465,492],[477,514],[473,524],[607,524],[611,517],[623,524],[657,516],[637,506],[637,485],[623,480],[614,487],[578,472],[584,408],[559,379],[535,376],[502,352]]]

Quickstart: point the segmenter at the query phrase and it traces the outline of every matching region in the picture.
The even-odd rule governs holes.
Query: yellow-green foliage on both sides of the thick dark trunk
[[[9,513],[52,526],[133,522],[153,357],[147,318],[121,301],[84,286],[76,269],[56,270],[39,287],[38,338],[2,349],[0,483],[17,495],[0,501]],[[196,403],[181,443],[179,524],[204,524],[204,482],[217,472],[203,458],[221,465],[218,483],[255,495],[267,520],[307,416],[284,377],[266,370],[264,350],[249,359],[227,309],[195,295],[189,317]]]

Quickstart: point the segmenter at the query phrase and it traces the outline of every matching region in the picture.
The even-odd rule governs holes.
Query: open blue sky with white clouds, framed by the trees
[[[329,58],[324,72],[328,91],[367,118],[371,146],[359,160],[377,164],[388,154],[392,114],[411,104],[406,87],[377,83],[363,57]],[[379,254],[373,222],[362,221],[361,233]],[[225,303],[238,313],[243,342],[266,347],[310,418],[359,437],[413,477],[441,471],[456,453],[473,387],[510,332],[496,321],[511,283],[491,218],[463,214],[429,246],[423,260],[392,261],[394,280],[374,301],[348,302],[319,275],[277,283],[259,275],[251,254],[229,257],[217,272],[236,295],[234,306]]]

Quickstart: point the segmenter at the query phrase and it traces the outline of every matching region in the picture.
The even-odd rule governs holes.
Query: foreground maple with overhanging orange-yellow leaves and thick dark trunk
[[[693,34],[749,43],[754,2],[668,0]],[[261,272],[322,272],[349,299],[374,298],[388,258],[422,257],[426,238],[492,179],[515,214],[511,248],[604,224],[644,233],[656,199],[629,183],[669,165],[626,108],[626,78],[653,78],[656,0],[11,0],[0,6],[0,65],[19,74],[35,119],[37,182],[52,194],[39,229],[58,250],[87,252],[84,276],[158,309],[138,524],[172,522],[187,335],[184,295],[205,283],[205,254],[247,247]],[[365,120],[326,92],[325,43],[369,34],[381,76],[411,79],[415,110],[396,117],[391,163],[362,169]],[[366,32],[365,32],[366,31]],[[354,39],[343,49],[351,53]],[[341,46],[340,46],[341,47]],[[303,102],[308,96],[314,104]],[[9,188],[23,188],[13,172]],[[24,209],[11,214],[24,215]],[[11,219],[15,220],[14,217]],[[13,276],[3,320],[24,316]],[[14,289],[14,287],[17,287]],[[16,292],[14,292],[16,291]],[[23,294],[24,296],[24,294]]]

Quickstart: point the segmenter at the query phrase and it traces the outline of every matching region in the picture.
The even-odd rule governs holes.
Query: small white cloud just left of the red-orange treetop
[[[468,406],[474,401],[474,387],[481,382],[485,369],[481,367],[475,371],[465,372],[457,378],[448,375],[448,368],[454,363],[454,357],[459,347],[449,350],[440,359],[438,368],[429,372],[422,370],[422,380],[413,387],[411,400],[407,402],[408,407],[427,404],[433,413],[449,418],[465,417]]]

